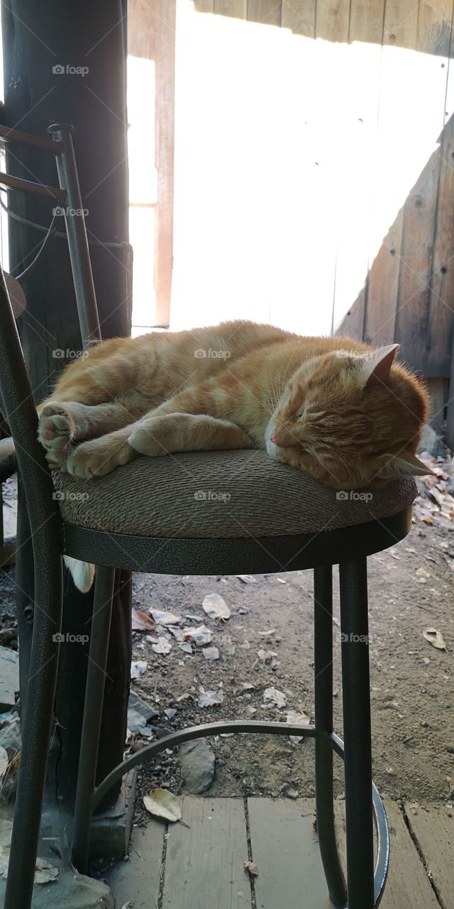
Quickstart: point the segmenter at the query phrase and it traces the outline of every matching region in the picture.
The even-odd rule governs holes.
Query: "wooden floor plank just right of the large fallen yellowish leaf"
[[[251,909],[244,805],[233,798],[183,798],[182,824],[167,839],[163,909]]]

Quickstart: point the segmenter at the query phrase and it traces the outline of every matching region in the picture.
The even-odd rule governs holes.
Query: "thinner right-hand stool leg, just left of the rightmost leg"
[[[347,892],[334,833],[332,788],[332,567],[314,569],[315,806],[321,861],[334,905]]]

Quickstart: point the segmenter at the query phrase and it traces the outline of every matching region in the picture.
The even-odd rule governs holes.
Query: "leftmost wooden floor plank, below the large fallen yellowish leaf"
[[[119,862],[109,875],[115,909],[131,901],[134,909],[154,909],[160,885],[165,825],[150,821],[145,829],[133,828],[129,862]]]

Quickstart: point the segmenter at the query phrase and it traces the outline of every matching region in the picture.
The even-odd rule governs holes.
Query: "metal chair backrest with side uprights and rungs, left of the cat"
[[[0,172],[0,185],[23,192],[50,195],[64,208],[64,224],[74,280],[74,291],[84,349],[101,340],[92,266],[82,198],[74,158],[73,127],[54,124],[52,138],[20,133],[0,126],[0,141],[34,145],[55,156],[59,186],[47,186]],[[43,247],[42,247],[43,249]],[[38,256],[34,261],[37,260]],[[61,521],[54,501],[52,477],[37,440],[37,415],[15,318],[25,308],[21,286],[0,266],[0,407],[15,443],[15,454],[25,489],[31,534],[41,528],[61,544]],[[1,445],[1,442],[0,442]]]

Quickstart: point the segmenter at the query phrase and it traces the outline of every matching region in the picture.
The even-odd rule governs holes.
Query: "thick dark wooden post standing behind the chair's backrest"
[[[125,2],[6,0],[2,5],[5,61],[5,125],[45,135],[54,122],[75,127],[74,147],[94,285],[104,337],[129,332],[131,256],[128,241],[128,178],[125,114]],[[54,157],[13,146],[8,171],[55,185]],[[49,225],[54,205],[41,196],[9,193],[9,205],[28,220]],[[64,218],[55,217],[64,232]],[[10,218],[10,270],[23,271],[44,234]],[[58,375],[81,349],[67,244],[53,237],[25,281],[27,309],[19,320],[35,400],[48,394]],[[70,352],[62,356],[55,352]],[[74,353],[73,353],[74,352]],[[33,562],[21,503],[18,530],[17,613],[21,640],[21,699],[27,697],[28,654],[33,620]],[[22,548],[21,548],[22,545]],[[79,594],[67,577],[64,633],[89,634],[93,596]],[[61,647],[56,727],[49,772],[51,794],[68,809],[75,777],[84,704],[87,646]],[[131,577],[117,573],[98,776],[123,758],[131,661]],[[33,685],[39,684],[39,678]],[[112,803],[113,794],[109,801]]]

